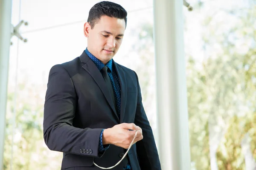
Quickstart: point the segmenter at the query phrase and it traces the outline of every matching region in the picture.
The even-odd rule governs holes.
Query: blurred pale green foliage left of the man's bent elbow
[[[60,169],[61,153],[56,155],[50,151],[43,139],[44,99],[38,96],[38,91],[45,89],[42,86],[35,88],[29,87],[29,84],[20,84],[16,98],[14,93],[8,94],[4,170],[9,170],[11,166],[14,170]]]

